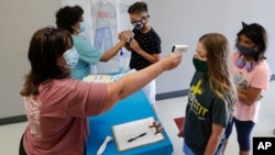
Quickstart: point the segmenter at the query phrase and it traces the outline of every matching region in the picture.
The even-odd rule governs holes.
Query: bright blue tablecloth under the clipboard
[[[152,106],[141,90],[119,101],[108,112],[98,117],[90,117],[89,137],[86,145],[87,155],[96,155],[107,135],[113,137],[111,131],[112,125],[145,119],[148,117],[153,117],[155,120],[158,120]],[[163,134],[163,141],[122,152],[118,152],[114,141],[112,141],[108,144],[103,155],[170,155],[174,151],[172,142],[165,131]]]

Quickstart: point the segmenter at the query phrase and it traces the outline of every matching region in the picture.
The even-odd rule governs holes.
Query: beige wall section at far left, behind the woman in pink
[[[58,0],[0,1],[0,119],[24,114],[20,90],[29,71],[28,48],[34,31],[55,25]]]

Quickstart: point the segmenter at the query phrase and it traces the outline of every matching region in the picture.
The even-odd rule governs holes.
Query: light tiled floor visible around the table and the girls
[[[271,82],[270,90],[264,93],[258,122],[253,130],[252,136],[274,136],[273,130],[275,129],[275,98],[273,97],[273,92],[275,92],[275,81]],[[160,100],[156,104],[158,118],[174,145],[173,155],[183,155],[183,139],[177,137],[178,129],[174,123],[174,119],[184,115],[187,97],[179,97]],[[0,126],[0,155],[18,154],[20,137],[25,125],[26,123],[24,122]],[[235,131],[233,131],[226,154],[237,155],[238,150],[237,135]]]

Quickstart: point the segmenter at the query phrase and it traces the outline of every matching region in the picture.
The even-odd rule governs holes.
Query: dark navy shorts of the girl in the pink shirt
[[[237,139],[241,151],[251,150],[251,132],[255,125],[252,121],[239,121],[233,118],[233,121],[226,129],[226,139],[228,140],[232,133],[233,124],[235,124]]]

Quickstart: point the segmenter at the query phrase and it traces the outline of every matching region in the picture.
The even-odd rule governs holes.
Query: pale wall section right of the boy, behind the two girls
[[[160,33],[163,55],[170,52],[173,44],[188,44],[182,65],[157,78],[157,93],[186,89],[194,74],[191,58],[198,38],[209,32],[226,35],[234,51],[235,34],[241,21],[262,24],[270,38],[267,62],[275,71],[275,1],[273,0],[145,0],[148,3],[151,25]]]

